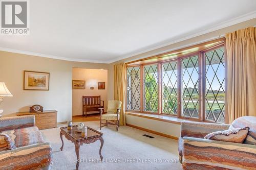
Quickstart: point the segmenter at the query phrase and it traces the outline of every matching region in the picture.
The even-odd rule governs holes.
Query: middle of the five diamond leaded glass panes
[[[177,61],[162,64],[162,112],[177,114]]]

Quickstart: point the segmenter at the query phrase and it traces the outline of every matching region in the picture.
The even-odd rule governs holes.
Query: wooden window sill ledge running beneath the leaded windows
[[[187,120],[187,119],[182,119],[182,118],[172,117],[172,116],[167,116],[167,115],[136,113],[136,112],[129,112],[129,111],[126,111],[125,114],[126,115],[149,118],[149,119],[154,119],[154,120],[159,120],[159,121],[162,121],[162,122],[168,122],[168,123],[173,123],[173,124],[178,124],[178,125],[180,125],[181,122],[185,122],[185,121],[195,122],[195,121],[192,121],[192,120]]]

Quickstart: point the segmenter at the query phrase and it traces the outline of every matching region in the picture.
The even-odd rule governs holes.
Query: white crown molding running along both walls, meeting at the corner
[[[114,62],[117,62],[117,61],[120,61],[120,60],[123,60],[123,59],[126,59],[126,58],[130,58],[130,57],[137,56],[137,55],[140,55],[140,54],[143,54],[143,53],[146,53],[146,52],[157,50],[158,48],[161,48],[161,47],[164,47],[164,46],[168,46],[168,45],[171,45],[171,44],[174,44],[174,43],[177,43],[177,42],[181,42],[181,41],[184,41],[184,40],[187,40],[187,39],[190,39],[190,38],[194,38],[194,37],[197,37],[197,36],[200,36],[200,35],[203,35],[203,34],[214,32],[216,30],[220,30],[220,29],[223,29],[223,28],[226,28],[226,27],[230,27],[232,25],[236,25],[240,22],[244,22],[244,21],[247,21],[247,20],[250,20],[250,19],[253,19],[253,18],[256,18],[256,10],[253,11],[253,12],[247,13],[245,15],[241,15],[239,17],[221,22],[221,23],[219,23],[215,26],[212,26],[211,28],[203,28],[199,32],[189,33],[186,36],[179,36],[179,37],[177,37],[173,40],[168,41],[167,43],[155,44],[155,45],[153,45],[154,47],[145,48],[144,50],[137,51],[137,52],[129,54],[129,55],[120,56],[120,57],[117,57],[115,59],[108,60],[108,61],[66,58],[66,57],[53,56],[53,55],[48,55],[48,54],[34,53],[34,52],[29,52],[29,51],[15,50],[15,49],[5,48],[5,47],[0,47],[0,51],[18,53],[18,54],[25,54],[25,55],[31,55],[31,56],[38,56],[38,57],[45,57],[45,58],[51,58],[51,59],[58,59],[58,60],[73,61],[73,62],[90,62],[90,63],[111,64],[111,63],[114,63]],[[212,37],[210,39],[203,40],[203,41],[200,41],[200,42],[195,42],[193,44],[187,44],[187,45],[181,46],[179,48],[183,48],[183,47],[186,47],[186,46],[198,44],[198,43],[201,43],[201,42],[206,42],[206,41],[213,40],[213,39],[216,39],[216,38],[220,38],[220,37],[223,37],[223,36],[224,35],[220,35],[218,37]],[[161,53],[170,52],[170,51],[173,51],[173,50],[178,50],[179,48],[173,48],[173,49],[169,49],[167,51],[161,51]],[[151,56],[158,55],[158,54],[160,54],[160,53],[154,53],[154,54],[151,54],[151,55],[148,55],[148,56],[143,56],[141,58],[151,57]],[[141,59],[141,58],[137,58],[136,60]]]

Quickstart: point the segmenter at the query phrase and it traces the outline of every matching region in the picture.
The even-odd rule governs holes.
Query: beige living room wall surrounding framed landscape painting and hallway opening
[[[13,94],[12,98],[4,98],[0,105],[4,109],[3,115],[15,115],[39,104],[45,110],[56,109],[57,122],[71,120],[73,67],[109,69],[109,64],[70,62],[0,51],[0,82],[5,82]],[[50,90],[23,90],[24,70],[50,72]],[[108,95],[108,100],[111,99],[113,94]]]

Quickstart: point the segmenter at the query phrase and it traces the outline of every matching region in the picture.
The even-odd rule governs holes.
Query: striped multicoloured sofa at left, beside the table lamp
[[[52,148],[35,126],[34,115],[0,118],[0,133],[8,134],[16,147],[0,151],[0,169],[51,169]]]

